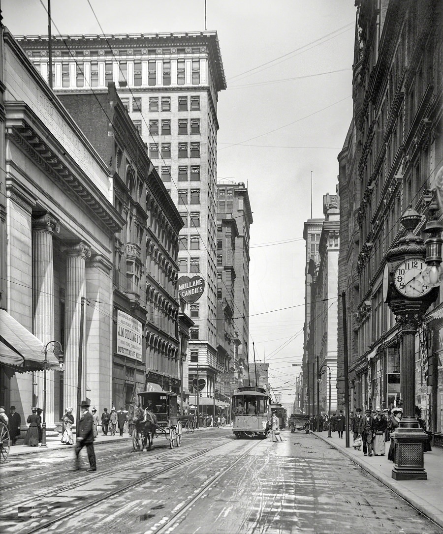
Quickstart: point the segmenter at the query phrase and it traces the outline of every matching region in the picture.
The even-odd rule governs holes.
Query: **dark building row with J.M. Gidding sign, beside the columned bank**
[[[178,393],[180,214],[114,83],[95,95],[61,94],[59,98],[108,163],[114,207],[125,219],[113,253],[114,405],[127,407],[137,392],[145,390],[146,382]],[[139,350],[135,343],[132,354],[120,339],[125,328],[134,332],[138,328],[142,334]]]

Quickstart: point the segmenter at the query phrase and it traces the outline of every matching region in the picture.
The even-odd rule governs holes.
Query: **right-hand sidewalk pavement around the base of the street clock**
[[[387,459],[389,443],[386,443],[386,456],[368,457],[363,456],[363,451],[354,450],[352,434],[349,436],[351,446],[348,449],[345,446],[345,434],[341,439],[338,437],[337,432],[332,433],[332,438],[328,438],[326,431],[320,433],[310,432],[310,434],[323,439],[323,441],[345,454],[362,469],[443,528],[443,498],[441,493],[443,450],[439,447],[432,447],[431,452],[424,453],[424,468],[428,474],[428,480],[396,481],[391,476],[394,464]]]

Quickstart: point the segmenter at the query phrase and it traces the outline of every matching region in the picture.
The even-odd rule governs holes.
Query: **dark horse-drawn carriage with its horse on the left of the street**
[[[163,435],[172,449],[182,444],[182,423],[178,420],[177,395],[170,391],[138,393],[138,403],[130,404],[128,421],[134,423],[135,451],[150,449],[154,438]],[[146,446],[147,445],[147,446]]]

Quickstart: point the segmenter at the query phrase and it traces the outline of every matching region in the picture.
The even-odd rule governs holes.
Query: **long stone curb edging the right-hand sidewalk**
[[[343,449],[343,447],[340,447],[339,445],[336,445],[335,443],[331,442],[330,440],[328,440],[327,437],[320,436],[316,432],[313,432],[313,431],[310,431],[310,433],[315,437],[323,439],[324,442],[328,443],[329,445],[334,447],[334,449],[344,454],[347,458],[349,458],[349,460],[352,460],[354,464],[357,464],[364,471],[366,471],[366,473],[376,478],[379,482],[381,482],[391,491],[396,493],[399,497],[401,497],[406,502],[408,502],[411,506],[413,506],[416,510],[418,510],[418,512],[423,514],[425,517],[428,517],[428,519],[436,523],[440,528],[443,528],[443,514],[438,508],[430,505],[424,499],[421,499],[420,497],[417,497],[416,495],[410,494],[410,492],[407,491],[405,488],[401,488],[398,485],[393,484],[388,478],[376,473],[374,470],[372,470],[367,464],[365,464],[359,458],[355,458],[353,454],[349,453],[346,449]]]

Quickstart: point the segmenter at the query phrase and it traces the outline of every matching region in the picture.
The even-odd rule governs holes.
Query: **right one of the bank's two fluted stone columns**
[[[81,299],[86,296],[86,258],[91,255],[90,248],[83,241],[64,249],[66,254],[65,290],[65,373],[64,409],[72,408],[77,412],[77,372],[80,349]],[[86,316],[86,314],[85,314]],[[83,365],[81,393],[86,397],[86,331],[83,328]],[[77,421],[75,421],[77,423]]]

